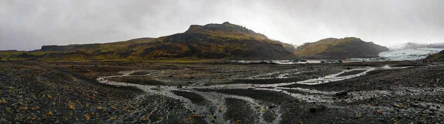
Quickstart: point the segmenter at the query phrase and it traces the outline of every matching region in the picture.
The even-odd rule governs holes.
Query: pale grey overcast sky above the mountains
[[[286,43],[444,42],[444,0],[0,0],[0,50],[104,43],[230,22]]]

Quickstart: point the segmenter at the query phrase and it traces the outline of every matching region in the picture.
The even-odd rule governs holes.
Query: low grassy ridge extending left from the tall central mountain
[[[22,59],[124,59],[137,46],[155,38],[137,38],[127,41],[94,44],[48,45],[40,50],[28,51],[14,57]]]

